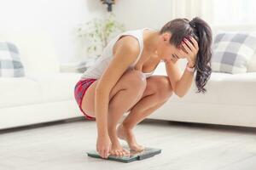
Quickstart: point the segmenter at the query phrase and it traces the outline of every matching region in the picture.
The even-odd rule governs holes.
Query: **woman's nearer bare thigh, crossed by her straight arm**
[[[109,101],[113,98],[119,90],[129,88],[132,82],[137,82],[137,80],[143,80],[143,74],[141,71],[127,70],[122,77],[119,78],[119,81],[113,86],[110,94]],[[95,116],[94,106],[95,106],[95,89],[99,80],[93,82],[89,88],[87,88],[84,97],[82,99],[81,108],[83,111],[88,113],[89,116]],[[144,78],[144,84],[146,87],[146,79]]]

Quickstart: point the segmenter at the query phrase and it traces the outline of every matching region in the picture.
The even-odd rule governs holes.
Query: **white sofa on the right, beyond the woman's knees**
[[[184,69],[186,60],[180,60]],[[165,66],[154,75],[166,75]],[[256,72],[228,74],[212,72],[206,94],[196,94],[195,81],[188,94],[172,97],[148,118],[178,122],[200,122],[256,127]]]

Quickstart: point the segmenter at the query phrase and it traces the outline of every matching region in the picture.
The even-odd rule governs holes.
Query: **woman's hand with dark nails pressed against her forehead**
[[[189,38],[193,42],[193,44],[189,42],[187,38],[184,38],[181,45],[185,51],[182,48],[179,48],[178,55],[186,57],[189,61],[189,67],[194,67],[195,58],[199,48],[198,48],[198,43],[195,41],[195,38],[194,37],[189,37]]]

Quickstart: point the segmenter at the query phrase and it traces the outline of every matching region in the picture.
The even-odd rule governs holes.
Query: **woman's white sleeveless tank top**
[[[86,79],[86,78],[96,78],[99,79],[102,76],[102,73],[107,69],[111,59],[113,59],[113,45],[115,42],[119,40],[119,37],[123,35],[131,35],[133,37],[136,37],[139,46],[140,46],[140,53],[137,56],[136,61],[130,65],[129,68],[134,68],[134,66],[137,64],[138,59],[140,59],[142,53],[143,53],[143,31],[145,29],[150,30],[151,28],[143,28],[143,29],[138,29],[138,30],[131,30],[131,31],[125,31],[120,33],[118,36],[114,37],[110,42],[108,42],[108,45],[103,49],[101,56],[96,59],[96,62],[91,65],[84,73],[82,74],[81,79]],[[154,30],[154,29],[151,29]],[[161,59],[163,61],[163,59]],[[146,77],[150,77],[154,71],[151,72],[143,72],[143,74]]]

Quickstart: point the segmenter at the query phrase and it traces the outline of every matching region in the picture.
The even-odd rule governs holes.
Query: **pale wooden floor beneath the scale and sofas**
[[[0,169],[256,169],[256,128],[147,120],[135,133],[140,144],[162,153],[131,163],[88,157],[85,151],[95,149],[96,122],[84,119],[2,131]]]

